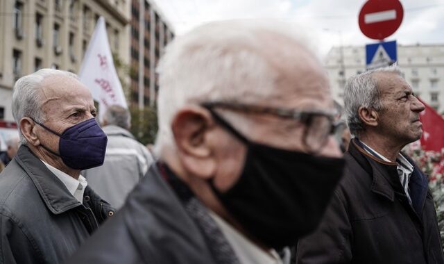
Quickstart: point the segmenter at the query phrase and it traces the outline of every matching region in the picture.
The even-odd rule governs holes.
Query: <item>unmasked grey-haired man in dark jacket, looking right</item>
[[[444,263],[427,177],[400,152],[420,138],[424,105],[395,66],[352,77],[344,103],[345,175],[297,263]]]

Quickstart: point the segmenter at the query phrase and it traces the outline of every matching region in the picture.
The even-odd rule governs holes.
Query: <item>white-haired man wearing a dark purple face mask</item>
[[[107,138],[77,76],[41,69],[15,83],[21,147],[0,174],[0,263],[62,263],[114,212],[80,170],[103,163]]]

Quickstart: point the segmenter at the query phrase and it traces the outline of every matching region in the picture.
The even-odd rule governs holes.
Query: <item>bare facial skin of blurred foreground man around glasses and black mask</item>
[[[277,37],[264,38],[262,43],[269,47],[265,54],[268,63],[275,70],[275,92],[264,100],[255,103],[259,106],[287,108],[294,110],[325,110],[332,112],[333,104],[327,76],[321,65],[310,53],[293,41]],[[280,39],[279,39],[280,38]],[[284,50],[289,52],[273,51]],[[219,110],[227,121],[250,141],[271,147],[292,151],[308,152],[303,142],[305,124],[296,119],[283,119],[273,115],[246,114]],[[237,116],[230,119],[230,116]],[[233,122],[237,120],[237,122]],[[239,179],[244,167],[246,146],[228,131],[221,128],[216,136],[221,151],[219,172],[214,177],[214,185],[221,190],[228,190]],[[325,145],[318,152],[319,156],[340,157],[341,151],[329,136]]]

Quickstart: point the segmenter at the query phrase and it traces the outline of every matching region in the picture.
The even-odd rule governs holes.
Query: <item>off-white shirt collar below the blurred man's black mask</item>
[[[278,252],[274,249],[264,251],[212,211],[210,211],[210,215],[221,229],[225,238],[227,238],[240,263],[282,264]]]

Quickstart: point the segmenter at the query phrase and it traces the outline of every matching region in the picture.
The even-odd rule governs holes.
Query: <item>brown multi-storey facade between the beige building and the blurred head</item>
[[[154,106],[158,90],[155,67],[174,37],[171,24],[152,0],[132,0],[130,104]]]

